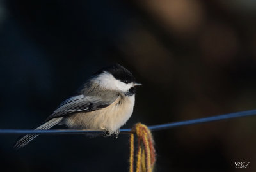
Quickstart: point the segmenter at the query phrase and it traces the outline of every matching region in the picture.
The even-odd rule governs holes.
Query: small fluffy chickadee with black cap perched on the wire
[[[135,82],[132,73],[120,64],[103,68],[36,129],[47,130],[65,124],[74,129],[104,129],[107,135],[118,134],[132,115],[138,85],[141,84]],[[26,135],[14,147],[24,147],[36,136]]]

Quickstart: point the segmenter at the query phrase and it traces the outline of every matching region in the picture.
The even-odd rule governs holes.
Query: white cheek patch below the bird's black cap
[[[116,78],[111,73],[106,71],[95,78],[95,82],[107,89],[118,90],[122,92],[127,92],[129,89],[131,89],[131,87],[133,87],[133,83],[126,84],[120,80],[116,80]]]

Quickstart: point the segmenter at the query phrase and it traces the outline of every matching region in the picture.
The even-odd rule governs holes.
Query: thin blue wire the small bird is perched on
[[[180,122],[172,122],[167,124],[151,125],[148,128],[151,131],[159,131],[170,129],[174,127],[181,127],[185,125],[201,124],[205,122],[213,122],[218,120],[227,120],[238,117],[248,117],[256,115],[256,110],[240,111],[236,113],[228,113],[225,115],[217,115],[213,117],[198,118],[193,120],[184,120]],[[86,134],[86,135],[100,135],[103,134],[102,130],[28,130],[28,129],[0,129],[0,134]],[[121,134],[131,133],[131,129],[120,129]]]

